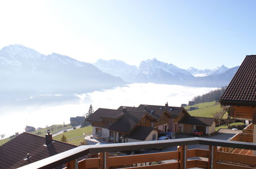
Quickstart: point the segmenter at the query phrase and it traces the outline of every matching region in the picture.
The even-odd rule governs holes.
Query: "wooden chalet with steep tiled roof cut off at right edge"
[[[222,105],[229,105],[229,116],[234,119],[250,120],[253,142],[256,143],[256,55],[245,57],[242,65],[230,81],[220,98]],[[243,132],[244,133],[244,132]],[[242,134],[243,138],[251,134]],[[248,141],[249,139],[247,139]],[[246,140],[241,140],[246,141]],[[256,151],[253,151],[256,155]]]

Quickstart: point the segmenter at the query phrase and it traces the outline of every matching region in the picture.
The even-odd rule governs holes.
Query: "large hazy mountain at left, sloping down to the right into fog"
[[[120,77],[71,57],[41,54],[22,45],[0,51],[0,92],[81,93],[126,84]]]

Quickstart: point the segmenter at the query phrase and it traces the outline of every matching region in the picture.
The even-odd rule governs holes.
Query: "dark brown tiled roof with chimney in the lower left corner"
[[[45,137],[22,133],[0,146],[0,168],[17,168],[73,149],[76,145],[53,140],[44,146]],[[29,160],[24,160],[29,153]]]

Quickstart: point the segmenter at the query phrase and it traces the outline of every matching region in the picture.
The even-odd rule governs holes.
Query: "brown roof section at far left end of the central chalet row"
[[[120,110],[113,109],[102,109],[99,108],[93,114],[86,118],[87,121],[97,121],[102,122],[102,118],[111,118],[117,119],[124,115],[124,113]]]

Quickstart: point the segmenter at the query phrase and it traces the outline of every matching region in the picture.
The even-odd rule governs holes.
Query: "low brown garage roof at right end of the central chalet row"
[[[179,123],[211,126],[214,120],[214,118],[209,117],[185,116]]]

